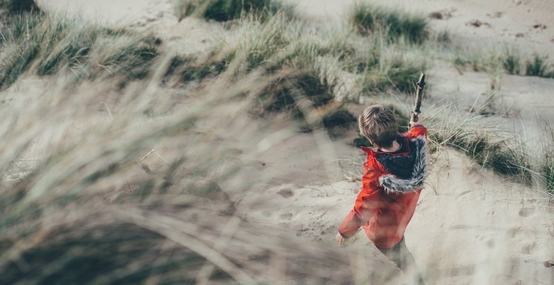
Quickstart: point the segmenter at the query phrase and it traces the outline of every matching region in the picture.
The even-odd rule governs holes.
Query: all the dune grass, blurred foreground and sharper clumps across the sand
[[[8,2],[32,3],[0,0]],[[236,19],[238,37],[206,54],[168,55],[154,37],[39,12],[17,15],[1,30],[0,90],[30,75],[73,88],[1,100],[0,284],[360,281],[349,270],[321,274],[348,262],[338,251],[278,237],[244,212],[264,192],[252,187],[276,179],[256,171],[267,166],[260,157],[302,136],[289,129],[324,128],[334,138],[355,128],[345,107],[355,100],[339,96],[341,76],[352,78],[347,91],[364,95],[413,90],[427,67],[427,21],[357,6],[366,14],[352,21],[364,36],[341,30],[332,37],[305,33],[277,12],[283,6],[276,1],[178,4],[179,17]],[[503,68],[519,73],[515,61]],[[116,88],[132,79],[139,79],[134,88]],[[89,80],[101,84],[91,88]],[[109,93],[115,89],[117,96]],[[407,131],[406,112],[389,107]],[[163,116],[145,116],[151,113]],[[521,147],[476,120],[430,118],[431,146],[452,147],[528,183]],[[540,169],[551,192],[552,161],[547,156]]]

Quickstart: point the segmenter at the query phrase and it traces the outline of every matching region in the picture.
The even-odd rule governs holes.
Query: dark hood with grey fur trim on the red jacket
[[[427,143],[423,136],[408,139],[397,138],[402,152],[390,154],[375,151],[375,159],[389,173],[379,177],[379,184],[386,192],[407,193],[420,190],[427,176]]]

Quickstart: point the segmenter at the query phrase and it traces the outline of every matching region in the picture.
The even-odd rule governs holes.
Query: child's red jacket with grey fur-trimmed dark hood
[[[427,129],[415,126],[399,134],[401,148],[393,154],[361,148],[368,154],[365,173],[354,208],[339,226],[343,237],[363,227],[378,248],[392,248],[400,242],[427,175],[426,138]]]

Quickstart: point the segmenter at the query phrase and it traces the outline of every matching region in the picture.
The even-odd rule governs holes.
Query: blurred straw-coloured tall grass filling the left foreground
[[[172,92],[152,89],[167,68],[107,98],[111,113],[96,104],[118,81],[107,78],[0,106],[0,283],[350,282],[348,270],[321,274],[348,262],[338,251],[244,219],[257,194],[229,199],[263,193],[254,184],[274,174],[251,179],[244,170],[298,136],[283,136],[279,120],[244,125],[255,97],[243,94],[263,89],[265,75],[224,71],[181,108]],[[164,115],[145,121],[145,111]],[[222,143],[233,136],[250,151]],[[34,163],[20,169],[21,160]],[[282,257],[285,267],[274,268]]]

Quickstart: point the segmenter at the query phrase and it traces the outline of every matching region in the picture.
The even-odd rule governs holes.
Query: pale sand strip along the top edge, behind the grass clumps
[[[337,1],[332,0],[287,1],[296,5],[307,17],[332,25],[341,24],[348,8],[355,2],[346,0],[337,4]],[[176,23],[177,18],[172,15],[172,0],[38,2],[44,8],[62,9],[70,14],[80,13],[85,17],[111,24],[152,27],[152,30],[162,35],[183,31],[175,30],[175,26],[179,24]],[[424,15],[439,12],[443,19],[431,20],[431,25],[436,30],[449,30],[463,42],[469,41],[479,46],[515,44],[530,53],[554,55],[554,5],[551,0],[393,0],[379,3]],[[472,24],[476,21],[481,22],[481,25]],[[170,23],[173,28],[170,28]],[[188,24],[183,26],[187,32],[197,29]],[[213,32],[211,30],[208,35],[214,35]],[[194,40],[195,36],[201,34],[193,34],[191,38]]]

